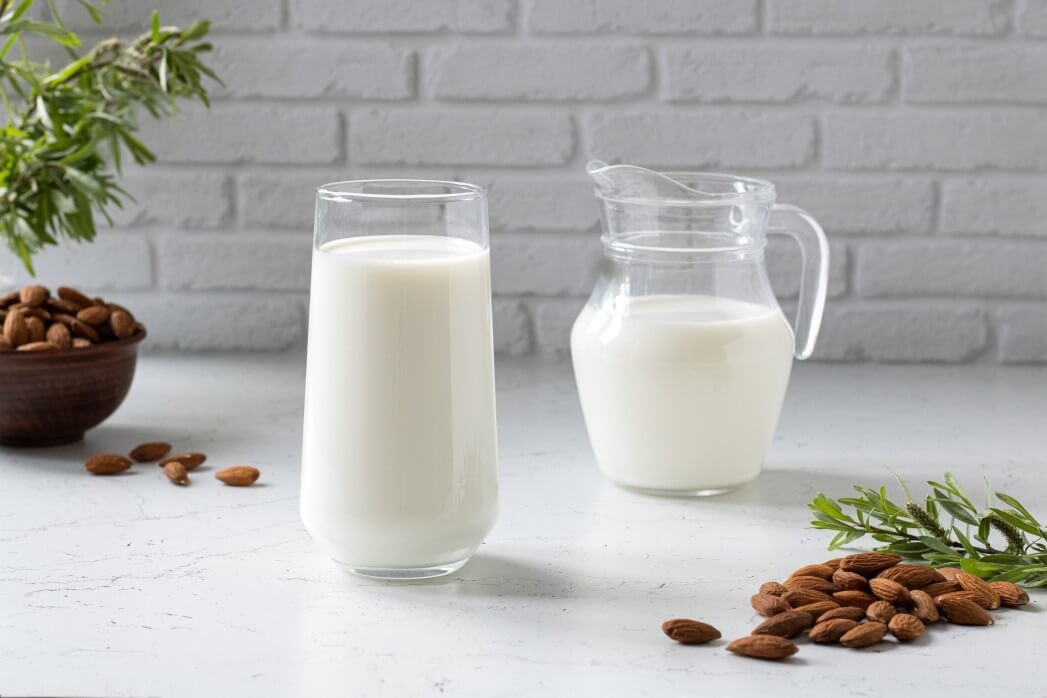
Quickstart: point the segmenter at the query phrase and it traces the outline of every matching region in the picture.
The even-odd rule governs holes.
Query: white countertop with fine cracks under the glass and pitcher
[[[981,475],[1047,511],[1047,369],[800,366],[764,474],[706,500],[599,476],[566,364],[498,368],[500,518],[463,570],[416,584],[347,576],[297,513],[303,360],[146,357],[85,443],[0,449],[3,696],[1033,695],[1047,616],[940,624],[911,646],[803,644],[736,657],[754,588],[831,557],[819,490]],[[159,469],[94,477],[85,456],[150,440],[262,470],[226,488]],[[673,616],[725,635],[676,646]],[[932,688],[933,686],[933,688]],[[992,691],[986,692],[986,688]]]

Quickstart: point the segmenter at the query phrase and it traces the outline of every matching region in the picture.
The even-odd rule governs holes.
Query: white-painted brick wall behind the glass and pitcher
[[[107,30],[153,6],[214,21],[226,84],[146,123],[116,230],[39,262],[153,347],[300,346],[314,187],[401,176],[490,188],[496,346],[562,353],[601,158],[766,177],[819,218],[819,358],[1047,363],[1047,0],[112,0]],[[798,252],[768,257],[792,306]]]

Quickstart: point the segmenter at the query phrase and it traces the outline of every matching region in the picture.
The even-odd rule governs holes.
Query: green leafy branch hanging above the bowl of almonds
[[[103,0],[104,1],[104,0]],[[90,241],[96,213],[111,223],[110,206],[131,196],[116,182],[121,152],[135,162],[155,159],[142,143],[137,113],[170,116],[179,99],[208,105],[206,78],[217,75],[200,55],[207,22],[187,28],[152,27],[131,42],[111,38],[79,54],[80,38],[47,0],[50,22],[30,18],[35,0],[0,0],[0,237],[29,273],[32,255],[61,239]],[[98,21],[98,7],[80,4]],[[45,37],[66,48],[71,62],[53,70],[34,62],[24,37]],[[17,59],[10,60],[15,55]]]

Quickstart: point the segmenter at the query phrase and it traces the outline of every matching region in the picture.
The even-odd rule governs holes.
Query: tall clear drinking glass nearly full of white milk
[[[459,182],[317,190],[302,518],[358,575],[423,579],[497,508],[487,199]]]

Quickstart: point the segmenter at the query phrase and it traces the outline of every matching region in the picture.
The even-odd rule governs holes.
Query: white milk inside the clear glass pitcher
[[[778,309],[622,298],[582,311],[571,351],[589,440],[611,480],[705,493],[759,474],[793,363]]]

